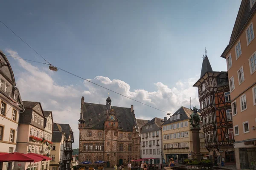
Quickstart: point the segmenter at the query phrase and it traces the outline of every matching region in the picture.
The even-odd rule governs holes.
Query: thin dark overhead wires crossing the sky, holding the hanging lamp
[[[0,22],[4,25],[4,26],[6,26],[1,20],[0,20]],[[12,29],[11,28],[9,28],[8,26],[6,26],[6,28],[8,28],[10,31],[12,31]],[[12,31],[12,33],[13,34],[15,34],[20,40],[22,40],[22,38],[20,38],[14,31]],[[24,40],[22,40],[26,45],[28,45],[33,51],[35,51],[28,43],[26,43]],[[38,54],[38,52],[37,51],[35,51],[35,53],[36,54]],[[40,54],[38,54],[40,57],[42,57]],[[9,55],[6,55],[7,57],[13,57],[13,58],[16,58],[16,59],[23,59],[23,58],[19,58],[19,57],[14,57],[14,56],[9,56]],[[38,62],[38,61],[33,61],[33,60],[30,60],[30,59],[23,59],[23,60],[26,60],[26,61],[30,61],[30,62],[37,62],[37,63],[41,63],[41,64],[45,64],[45,65],[52,65],[52,64],[50,64],[44,57],[42,57],[47,63],[44,63],[44,62]],[[135,100],[135,99],[132,99],[131,97],[128,97],[128,96],[125,96],[125,95],[123,95],[123,94],[120,94],[120,93],[118,93],[118,92],[116,92],[116,91],[113,91],[113,90],[111,90],[111,89],[109,89],[109,88],[105,88],[104,86],[102,86],[102,85],[99,85],[99,84],[97,84],[97,83],[95,83],[95,82],[91,82],[90,80],[88,80],[88,79],[84,79],[84,78],[82,78],[82,77],[80,77],[80,76],[78,76],[78,75],[76,75],[76,74],[73,74],[73,73],[71,73],[71,72],[69,72],[69,71],[66,71],[66,70],[64,70],[64,69],[62,69],[62,68],[59,68],[59,67],[57,67],[59,70],[61,70],[61,71],[64,71],[64,72],[66,72],[66,73],[68,73],[68,74],[70,74],[70,75],[73,75],[73,76],[75,76],[75,77],[78,77],[78,78],[80,78],[80,79],[83,79],[83,80],[85,80],[85,81],[87,81],[87,82],[90,82],[90,83],[92,83],[92,84],[94,84],[94,85],[97,85],[97,86],[99,86],[99,87],[101,87],[101,88],[104,88],[104,89],[106,89],[106,90],[108,90],[108,91],[112,91],[113,93],[115,93],[115,94],[119,94],[119,95],[121,95],[121,96],[123,96],[123,97],[126,97],[126,98],[128,98],[128,99],[131,99],[131,100],[133,100],[133,101],[135,101],[135,102],[138,102],[138,103],[140,103],[140,104],[143,104],[143,105],[146,105],[146,106],[148,106],[148,107],[150,107],[150,108],[154,108],[154,109],[156,109],[156,110],[158,110],[158,111],[162,111],[162,112],[164,112],[164,113],[168,113],[168,112],[166,112],[166,111],[163,111],[163,110],[160,110],[160,109],[158,109],[158,108],[155,108],[155,107],[153,107],[153,106],[151,106],[151,105],[147,105],[147,104],[145,104],[145,103],[143,103],[143,102],[140,102],[140,101],[138,101],[138,100]]]

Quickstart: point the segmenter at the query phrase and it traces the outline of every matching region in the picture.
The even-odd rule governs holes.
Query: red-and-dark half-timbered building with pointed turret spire
[[[210,158],[235,163],[233,149],[232,110],[227,72],[212,71],[209,59],[203,57],[201,77],[193,85],[198,87],[205,145]]]

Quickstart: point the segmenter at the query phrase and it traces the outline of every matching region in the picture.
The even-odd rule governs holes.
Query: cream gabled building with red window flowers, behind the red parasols
[[[17,134],[17,152],[32,152],[49,156],[52,142],[47,139],[51,139],[52,133],[50,129],[45,131],[45,125],[46,120],[52,118],[51,112],[46,118],[40,102],[23,101],[23,105],[25,111],[20,113],[18,130],[22,133]],[[49,161],[40,161],[31,165],[25,162],[15,162],[15,166],[18,164],[23,169],[29,169],[30,167],[49,170]]]

